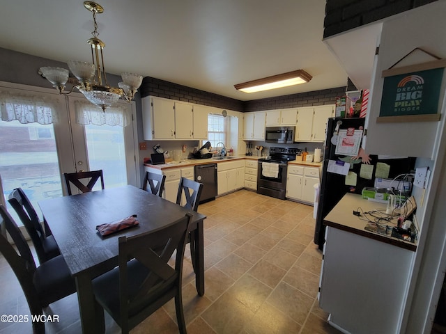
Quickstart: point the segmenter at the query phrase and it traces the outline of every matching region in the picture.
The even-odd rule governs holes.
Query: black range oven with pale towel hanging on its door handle
[[[259,159],[257,193],[285,199],[288,161],[295,160],[298,148],[270,148],[270,156]]]

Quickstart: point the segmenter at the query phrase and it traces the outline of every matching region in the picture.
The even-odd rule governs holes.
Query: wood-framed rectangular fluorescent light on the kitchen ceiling
[[[305,84],[311,79],[312,76],[304,70],[297,70],[273,75],[272,77],[266,77],[263,79],[247,81],[243,84],[236,84],[234,85],[234,87],[236,88],[236,90],[241,90],[244,93],[255,93],[261,92],[262,90]]]

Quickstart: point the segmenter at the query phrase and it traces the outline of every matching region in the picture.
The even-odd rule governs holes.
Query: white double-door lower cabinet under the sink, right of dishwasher
[[[243,188],[245,164],[243,160],[217,164],[217,195]]]

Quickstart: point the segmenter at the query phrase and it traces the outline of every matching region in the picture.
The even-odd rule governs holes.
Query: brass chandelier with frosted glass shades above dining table
[[[104,8],[92,1],[84,1],[84,7],[93,13],[94,31],[91,32],[93,38],[87,40],[91,45],[93,63],[85,61],[67,62],[72,74],[77,78],[77,82],[68,93],[63,93],[70,74],[68,70],[61,67],[40,67],[39,72],[52,83],[54,88],[59,90],[59,94],[68,95],[72,93],[74,88],[77,88],[87,100],[105,111],[108,106],[115,104],[120,97],[128,102],[133,100],[134,94],[141,86],[142,76],[134,73],[121,73],[123,81],[118,83],[119,88],[109,86],[105,75],[102,51],[105,44],[98,38],[98,24],[96,23],[96,14],[103,13]]]

